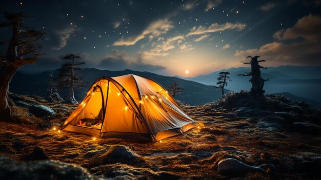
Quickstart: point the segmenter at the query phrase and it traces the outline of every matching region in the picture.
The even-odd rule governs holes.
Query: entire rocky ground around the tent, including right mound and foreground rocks
[[[63,122],[67,111],[74,107],[24,97],[24,102],[50,107],[55,114],[43,118],[28,113],[24,124],[0,123],[1,179],[321,176],[320,111],[280,96],[257,98],[242,91],[204,106],[184,106],[199,128],[162,143],[94,140],[86,135],[58,132],[52,129],[55,123]],[[14,102],[18,101],[21,99],[16,97]],[[30,109],[19,103],[16,106],[19,112]]]

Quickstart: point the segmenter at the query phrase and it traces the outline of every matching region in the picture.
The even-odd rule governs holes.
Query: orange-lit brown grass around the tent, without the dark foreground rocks
[[[56,105],[48,105],[56,106]],[[99,177],[125,175],[129,179],[300,179],[317,178],[307,169],[309,159],[321,156],[321,137],[293,131],[256,128],[255,117],[227,117],[233,110],[211,105],[185,106],[184,111],[199,124],[187,134],[162,143],[132,139],[96,139],[39,128],[32,123],[0,123],[0,155],[21,158],[34,146],[42,147],[50,159],[81,165]],[[65,114],[54,119],[62,123]],[[30,120],[32,121],[32,120]],[[47,123],[43,119],[37,123]],[[112,145],[124,145],[139,157],[106,156]],[[217,164],[235,158],[248,165],[272,164],[275,169],[246,175],[217,173]]]

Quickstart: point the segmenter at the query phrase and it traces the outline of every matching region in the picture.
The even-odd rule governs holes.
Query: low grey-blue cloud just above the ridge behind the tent
[[[131,69],[136,71],[151,71],[162,72],[166,70],[164,66],[157,66],[146,64],[143,62],[141,55],[137,54],[135,57],[128,56],[125,51],[117,49],[111,50],[111,53],[106,56],[98,65],[99,69],[109,70],[124,70]]]

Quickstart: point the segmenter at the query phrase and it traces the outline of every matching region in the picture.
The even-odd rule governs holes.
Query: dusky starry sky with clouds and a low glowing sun
[[[21,70],[56,69],[75,53],[86,67],[185,77],[243,66],[247,55],[262,55],[265,66],[319,66],[320,10],[320,0],[0,2],[2,12],[31,13],[27,23],[46,32],[47,55]]]

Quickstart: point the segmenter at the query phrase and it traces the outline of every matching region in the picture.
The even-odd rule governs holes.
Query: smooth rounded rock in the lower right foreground
[[[249,172],[264,172],[260,167],[250,166],[234,158],[227,158],[217,164],[217,172],[220,174],[247,174]]]

